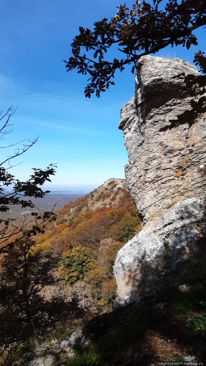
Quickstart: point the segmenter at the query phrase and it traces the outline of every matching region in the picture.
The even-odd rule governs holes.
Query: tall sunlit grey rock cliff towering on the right
[[[205,250],[206,114],[191,114],[200,96],[190,96],[181,73],[199,75],[180,59],[142,57],[121,109],[126,182],[143,229],[118,252],[117,306],[155,294],[163,277],[178,266],[184,273]]]

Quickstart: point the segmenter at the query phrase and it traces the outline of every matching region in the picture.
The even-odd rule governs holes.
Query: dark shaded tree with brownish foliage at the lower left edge
[[[51,248],[45,250],[31,238],[19,240],[8,253],[1,253],[1,364],[7,364],[8,359],[16,361],[15,348],[26,347],[33,333],[44,338],[49,329],[82,317],[84,311],[77,299],[61,291],[56,274],[58,261]]]

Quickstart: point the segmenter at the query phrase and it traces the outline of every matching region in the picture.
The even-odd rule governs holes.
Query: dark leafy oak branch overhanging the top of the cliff
[[[114,74],[122,72],[125,65],[132,65],[132,72],[138,67],[138,60],[165,48],[168,45],[182,45],[189,49],[198,45],[194,30],[206,25],[206,2],[204,0],[153,0],[152,4],[136,0],[130,9],[119,5],[117,14],[108,20],[103,18],[94,23],[93,30],[80,27],[80,33],[71,44],[73,56],[66,63],[67,71],[77,69],[89,75],[85,96],[91,97],[114,85]],[[115,47],[117,57],[109,60],[108,49]],[[119,55],[119,56],[118,56]],[[204,52],[195,53],[195,64],[206,73]]]

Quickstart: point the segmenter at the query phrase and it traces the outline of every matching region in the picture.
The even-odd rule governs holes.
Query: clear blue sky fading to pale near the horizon
[[[66,72],[62,59],[71,55],[70,44],[78,27],[92,27],[96,20],[111,18],[118,0],[3,0],[0,30],[0,98],[5,111],[19,105],[5,143],[33,139],[38,142],[12,169],[27,179],[31,168],[58,163],[54,184],[96,184],[124,178],[127,153],[119,112],[133,95],[130,67],[117,74],[115,86],[101,98],[85,98],[86,78]],[[131,5],[131,2],[127,2]],[[189,51],[167,48],[159,56],[180,57],[192,63],[194,52],[205,51],[205,31],[197,31],[200,46]],[[5,153],[5,150],[3,150]],[[10,152],[12,153],[12,152]],[[7,155],[10,155],[7,152]]]

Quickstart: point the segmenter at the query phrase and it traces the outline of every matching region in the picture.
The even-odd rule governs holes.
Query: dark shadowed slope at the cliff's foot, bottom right
[[[186,259],[174,266],[180,257]],[[134,286],[131,298],[135,298],[138,285],[141,300],[91,320],[84,329],[101,362],[115,366],[150,363],[156,366],[163,361],[195,359],[204,362],[205,262],[205,238],[202,237],[189,256],[184,247],[175,253],[165,250],[165,255],[155,258],[154,263],[147,261],[140,265],[138,278],[130,273],[128,281]],[[148,285],[151,292],[144,294]],[[102,365],[101,362],[97,365]],[[79,365],[83,365],[81,361]]]

